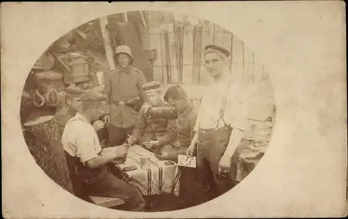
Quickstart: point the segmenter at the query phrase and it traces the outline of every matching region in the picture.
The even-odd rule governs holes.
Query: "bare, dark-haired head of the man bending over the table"
[[[179,85],[168,88],[164,94],[164,100],[166,100],[171,107],[174,107],[177,112],[184,111],[190,103],[187,93]]]

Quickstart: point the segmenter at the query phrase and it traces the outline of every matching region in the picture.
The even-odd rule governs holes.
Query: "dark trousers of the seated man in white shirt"
[[[110,172],[100,172],[84,182],[88,195],[99,197],[117,197],[125,200],[125,204],[117,209],[123,211],[141,211],[145,201],[140,190],[132,184],[126,183]]]

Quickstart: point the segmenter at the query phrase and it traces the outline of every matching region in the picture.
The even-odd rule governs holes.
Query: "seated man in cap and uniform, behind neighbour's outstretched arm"
[[[148,98],[139,112],[139,118],[134,127],[132,135],[127,139],[128,144],[139,143],[146,149],[161,152],[173,151],[173,144],[177,139],[177,121],[159,118],[152,119],[145,115],[148,105],[152,107],[169,107],[161,98],[161,87],[159,82],[148,82],[143,85],[143,90]]]

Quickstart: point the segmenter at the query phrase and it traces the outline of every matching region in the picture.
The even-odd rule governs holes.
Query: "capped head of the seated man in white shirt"
[[[106,96],[95,89],[85,91],[81,98],[81,112],[90,120],[97,120],[102,115],[102,102],[106,99]]]

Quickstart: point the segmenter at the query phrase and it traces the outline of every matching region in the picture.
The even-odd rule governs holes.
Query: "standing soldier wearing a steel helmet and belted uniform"
[[[146,96],[142,86],[146,80],[140,70],[132,66],[133,56],[129,47],[116,48],[116,69],[106,75],[103,93],[109,98],[104,114],[108,125],[109,143],[119,145],[125,142],[138,119],[138,112]]]

